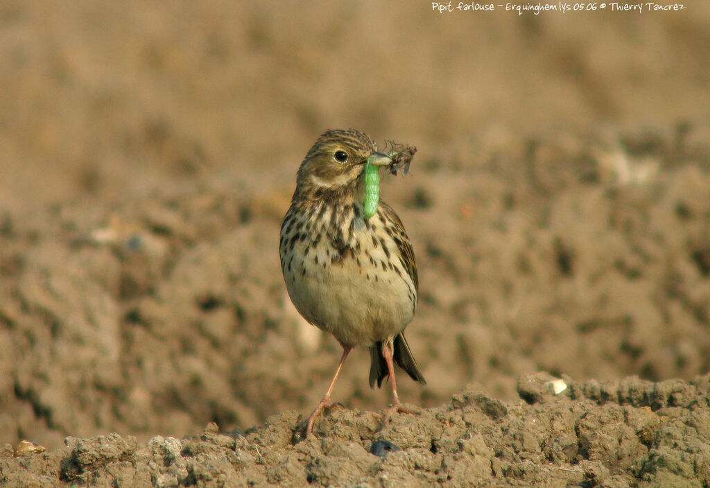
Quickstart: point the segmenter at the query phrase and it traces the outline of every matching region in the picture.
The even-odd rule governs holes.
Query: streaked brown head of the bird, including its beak
[[[313,144],[298,169],[296,191],[303,195],[356,193],[365,163],[386,166],[391,158],[377,152],[377,144],[355,129],[326,131]]]

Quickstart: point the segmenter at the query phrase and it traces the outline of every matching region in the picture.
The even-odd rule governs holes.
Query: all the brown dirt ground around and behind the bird
[[[3,2],[0,484],[709,486],[709,52],[695,1]],[[379,430],[354,352],[293,444],[339,346],[278,231],[349,126],[419,149],[428,384]]]

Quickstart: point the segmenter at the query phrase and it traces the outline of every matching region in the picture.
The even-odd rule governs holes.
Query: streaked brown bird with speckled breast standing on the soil
[[[392,158],[378,152],[361,131],[325,131],[297,170],[281,225],[281,269],[293,305],[343,348],[326,394],[297,432],[302,438],[311,435],[315,419],[329,406],[354,347],[369,348],[371,388],[390,379],[393,400],[383,427],[394,413],[416,413],[400,401],[394,364],[426,384],[404,336],[417,306],[414,251],[401,219],[386,202],[380,201],[376,213],[366,217],[367,161],[382,167],[391,165]]]

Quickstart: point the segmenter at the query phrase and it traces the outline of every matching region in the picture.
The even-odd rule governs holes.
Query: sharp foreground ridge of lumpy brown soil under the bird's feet
[[[710,376],[659,383],[520,378],[504,402],[471,384],[380,429],[373,412],[334,407],[293,445],[299,416],[246,432],[67,438],[52,452],[0,452],[7,486],[703,487],[710,482]],[[382,448],[381,446],[385,446]]]

